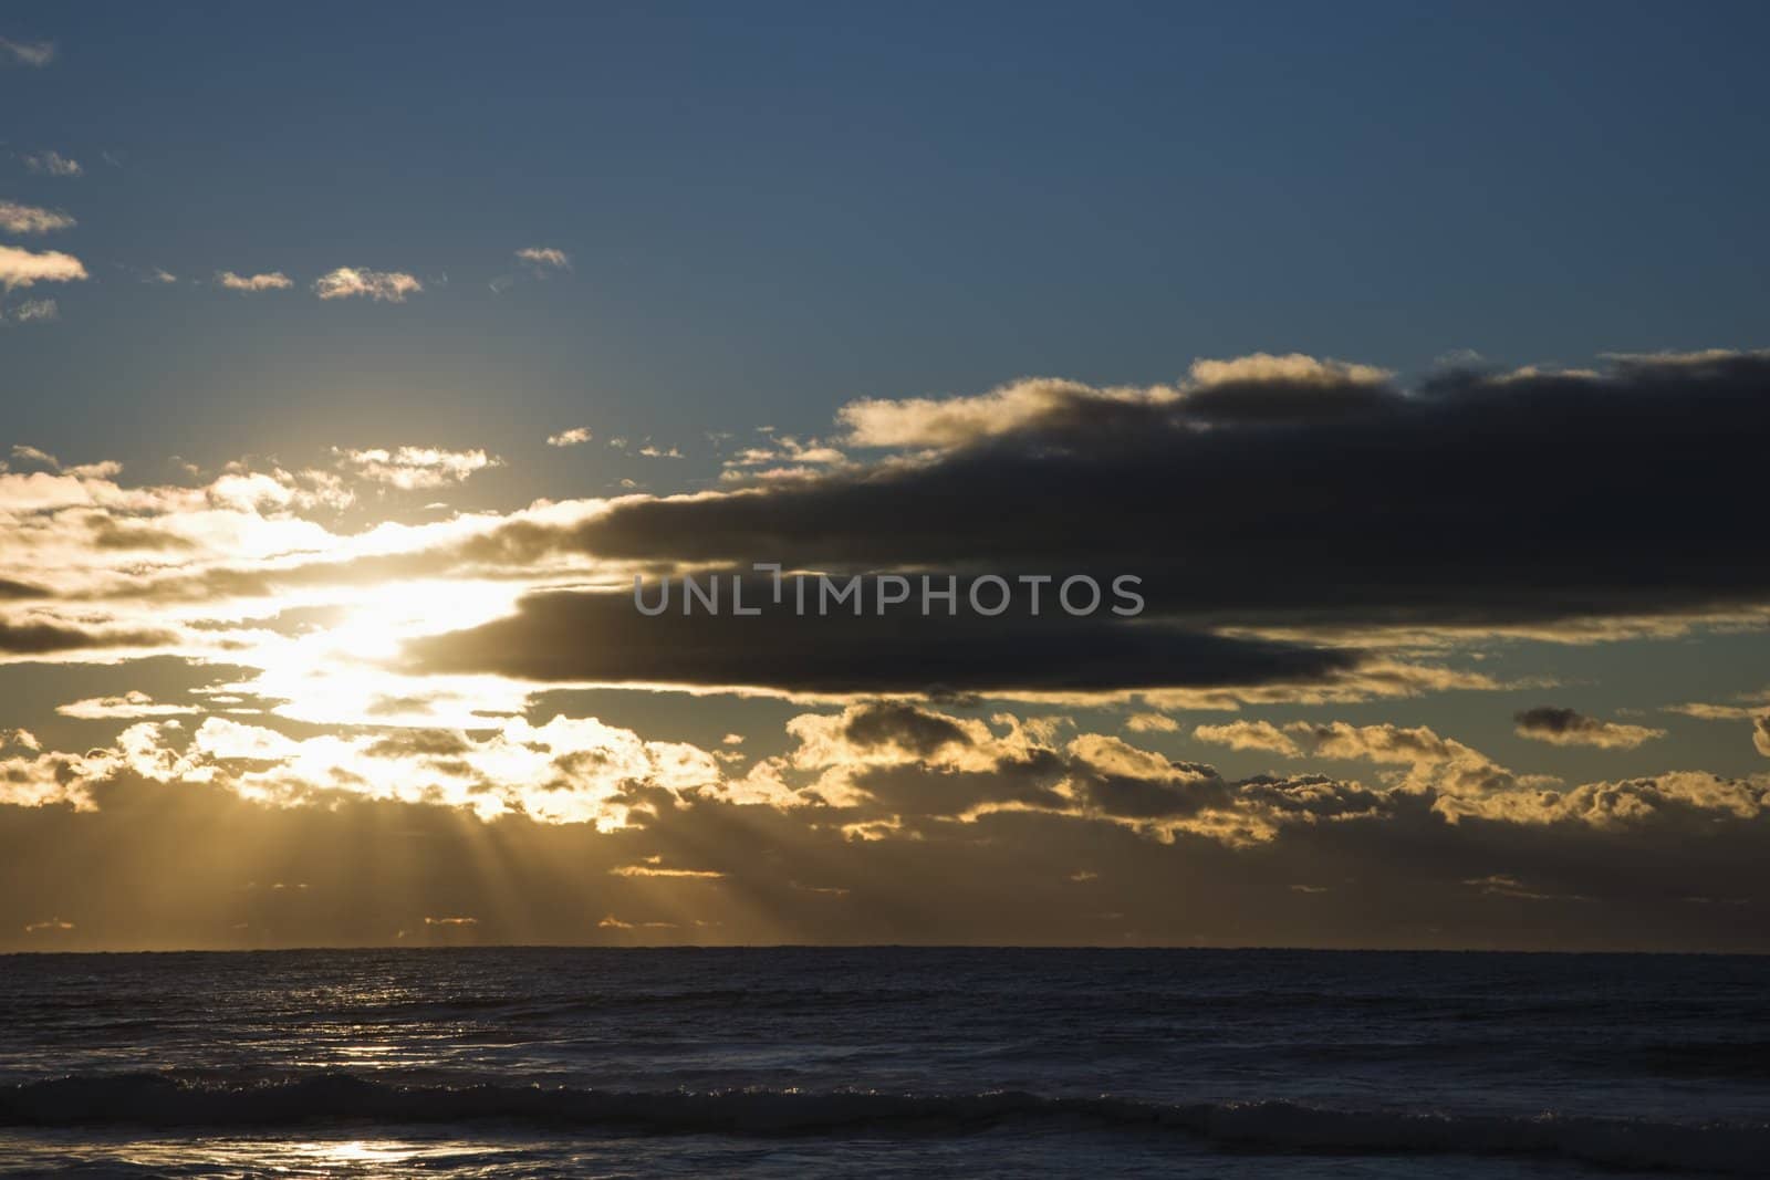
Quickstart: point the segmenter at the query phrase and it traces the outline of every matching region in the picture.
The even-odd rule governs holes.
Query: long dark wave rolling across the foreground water
[[[1542,1115],[1347,1111],[1294,1102],[1159,1104],[1021,1092],[906,1095],[793,1090],[604,1092],[570,1086],[411,1086],[352,1074],[218,1084],[92,1074],[0,1086],[0,1125],[156,1129],[327,1123],[524,1123],[628,1134],[954,1136],[1028,1130],[1184,1134],[1250,1150],[1563,1157],[1612,1168],[1758,1171],[1770,1123],[1655,1123]]]

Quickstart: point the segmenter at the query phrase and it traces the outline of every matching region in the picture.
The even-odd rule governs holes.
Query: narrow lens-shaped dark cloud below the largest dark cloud
[[[1227,639],[1104,610],[1087,617],[1050,609],[1037,617],[1027,609],[998,617],[924,617],[906,603],[878,616],[871,614],[873,582],[867,586],[869,614],[860,617],[782,610],[644,617],[632,593],[533,594],[512,617],[418,640],[409,653],[432,672],[832,693],[1326,683],[1358,665],[1354,651]],[[743,596],[761,603],[766,594],[765,582],[754,582]]]

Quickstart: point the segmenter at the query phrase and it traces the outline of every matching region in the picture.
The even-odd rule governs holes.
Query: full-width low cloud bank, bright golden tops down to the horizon
[[[347,833],[379,830],[423,840],[423,863],[458,872],[439,883],[414,869],[412,881],[427,883],[418,888],[395,858],[373,874],[375,888],[354,895],[361,913],[352,908],[347,925],[478,915],[490,941],[572,941],[598,927],[596,915],[616,932],[690,929],[680,909],[653,906],[692,890],[697,920],[736,941],[1083,943],[1099,941],[1101,913],[1120,913],[1150,941],[1763,945],[1752,908],[1770,775],[1474,780],[1439,773],[1480,759],[1453,738],[1310,725],[1324,741],[1397,761],[1372,759],[1379,770],[1365,780],[1319,766],[1234,778],[1112,734],[901,701],[798,713],[784,750],[742,778],[704,750],[586,718],[418,732],[225,718],[189,732],[150,720],[78,757],[0,754],[0,791],[21,803],[0,807],[9,847],[34,858],[78,823],[127,853],[103,883],[110,908],[97,904],[97,883],[81,885],[78,858],[58,867],[35,856],[30,904],[42,909],[0,899],[0,916],[16,931],[48,909],[42,897],[133,915],[133,883],[154,879],[172,881],[173,895],[152,904],[209,915],[202,906],[237,895],[253,849],[276,856],[281,879],[324,870],[333,876],[312,879],[333,881]],[[1299,729],[1296,739],[1308,736]],[[1437,771],[1416,773],[1404,755]],[[462,814],[497,823],[480,830]],[[225,854],[179,846],[175,833],[202,817],[230,833]],[[467,851],[485,839],[522,863],[536,902],[524,911],[543,929],[522,934],[510,915],[478,908],[497,888],[478,876],[485,858]],[[219,893],[214,872],[230,874]],[[595,911],[586,879],[602,881]],[[1743,904],[1696,908],[1690,897]],[[1558,906],[1579,899],[1589,899],[1581,925],[1554,925]],[[1549,923],[1533,925],[1533,915]],[[313,941],[315,931],[285,936]]]

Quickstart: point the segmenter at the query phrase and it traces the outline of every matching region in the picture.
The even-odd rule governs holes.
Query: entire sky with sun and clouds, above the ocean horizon
[[[0,950],[1770,950],[1765,34],[7,5]]]

